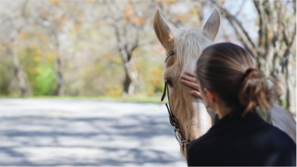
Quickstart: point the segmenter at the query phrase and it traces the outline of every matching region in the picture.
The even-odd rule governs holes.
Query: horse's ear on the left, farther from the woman
[[[174,41],[175,36],[171,32],[168,25],[165,23],[165,21],[162,18],[162,15],[157,8],[154,16],[154,30],[157,35],[157,38],[163,45],[163,47],[168,47],[170,44],[172,44],[172,41]]]

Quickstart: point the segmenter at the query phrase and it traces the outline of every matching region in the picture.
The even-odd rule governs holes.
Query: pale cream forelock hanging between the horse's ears
[[[203,35],[201,28],[181,29],[174,41],[177,63],[182,66],[181,74],[187,70],[193,71],[203,49],[211,44],[212,40]]]

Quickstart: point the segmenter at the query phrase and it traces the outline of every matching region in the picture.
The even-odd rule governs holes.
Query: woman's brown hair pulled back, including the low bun
[[[254,112],[256,106],[264,112],[271,108],[272,90],[258,75],[254,58],[232,43],[207,47],[197,61],[202,91],[204,88],[214,91],[241,116]]]

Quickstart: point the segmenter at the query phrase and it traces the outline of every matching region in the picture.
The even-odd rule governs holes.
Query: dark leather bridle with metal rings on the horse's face
[[[171,51],[171,52],[167,55],[167,57],[166,57],[166,59],[165,59],[165,64],[166,64],[168,58],[169,58],[171,55],[174,55],[174,54],[175,54],[175,51],[173,50],[173,51]],[[175,116],[173,115],[173,113],[172,113],[172,111],[171,111],[171,107],[170,107],[170,103],[169,103],[169,90],[168,90],[168,85],[167,85],[166,82],[165,82],[164,92],[163,92],[163,96],[162,96],[162,98],[161,98],[161,101],[163,101],[164,98],[165,98],[165,95],[166,95],[166,88],[167,88],[167,91],[168,91],[168,93],[167,93],[167,97],[168,97],[168,104],[169,104],[169,107],[168,107],[167,104],[165,104],[165,105],[166,105],[167,110],[168,110],[168,113],[169,113],[170,124],[172,125],[172,127],[173,127],[173,129],[174,129],[175,137],[176,137],[177,141],[179,142],[179,144],[181,145],[181,147],[182,147],[182,149],[183,149],[183,151],[184,151],[185,144],[189,144],[189,141],[187,141],[187,140],[184,139],[184,135],[181,133],[181,130],[180,130],[178,124],[177,124],[176,118],[175,118]]]

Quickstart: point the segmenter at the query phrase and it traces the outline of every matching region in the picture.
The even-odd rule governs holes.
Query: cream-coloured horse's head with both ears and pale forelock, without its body
[[[173,83],[168,84],[170,107],[187,141],[193,141],[205,134],[211,128],[214,116],[211,117],[207,112],[202,99],[190,96],[192,89],[181,83],[181,75],[185,74],[185,71],[195,70],[198,56],[204,48],[212,44],[219,25],[219,11],[214,9],[203,29],[183,29],[175,36],[163,20],[159,9],[154,16],[154,30],[166,53],[173,50],[176,52],[165,64],[164,81]],[[184,151],[181,149],[185,157],[186,152],[186,148]]]

